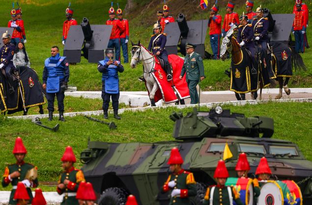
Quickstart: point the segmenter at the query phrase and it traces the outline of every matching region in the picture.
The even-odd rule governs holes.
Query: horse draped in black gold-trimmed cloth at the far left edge
[[[37,73],[21,66],[12,75],[15,79],[12,85],[15,92],[10,94],[6,77],[0,72],[0,112],[13,114],[24,111],[24,115],[27,115],[30,107],[39,106],[39,113],[43,114],[42,105],[46,102]]]

